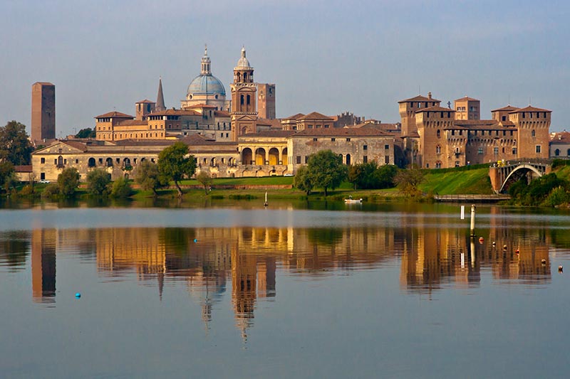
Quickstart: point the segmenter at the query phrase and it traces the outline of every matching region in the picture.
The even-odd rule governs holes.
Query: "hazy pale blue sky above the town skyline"
[[[567,1],[0,1],[0,123],[28,126],[31,85],[56,85],[57,136],[112,110],[180,107],[204,43],[226,87],[242,45],[277,117],[318,111],[398,122],[398,100],[431,91],[553,111],[569,129]]]

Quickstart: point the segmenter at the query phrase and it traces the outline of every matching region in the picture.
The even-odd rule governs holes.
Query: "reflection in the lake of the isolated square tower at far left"
[[[55,229],[36,229],[32,232],[31,288],[33,301],[55,301],[56,242]]]

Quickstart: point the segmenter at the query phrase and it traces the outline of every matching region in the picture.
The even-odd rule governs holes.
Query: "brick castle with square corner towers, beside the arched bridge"
[[[480,101],[471,97],[455,100],[454,109],[431,94],[398,104],[408,162],[424,169],[549,156],[549,110],[509,105],[480,119]]]

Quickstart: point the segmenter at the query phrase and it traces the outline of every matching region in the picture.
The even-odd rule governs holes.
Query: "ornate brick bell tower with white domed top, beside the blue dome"
[[[242,58],[234,67],[232,89],[232,141],[242,134],[257,131],[257,84],[254,82],[254,68],[249,65],[242,48]]]

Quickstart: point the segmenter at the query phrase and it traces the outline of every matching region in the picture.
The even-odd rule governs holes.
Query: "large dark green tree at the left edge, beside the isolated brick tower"
[[[26,125],[11,121],[0,127],[0,160],[9,161],[14,166],[30,164],[32,151]]]

